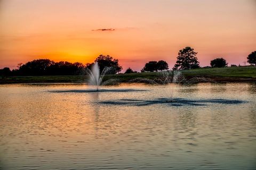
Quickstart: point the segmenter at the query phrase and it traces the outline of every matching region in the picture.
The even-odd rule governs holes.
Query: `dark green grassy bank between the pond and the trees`
[[[205,77],[217,82],[243,82],[256,81],[256,67],[225,67],[225,68],[205,68],[181,71],[187,78]],[[136,78],[156,79],[161,77],[159,72],[131,73],[106,75],[104,80],[118,79],[118,82],[129,82]],[[1,77],[0,83],[81,83],[86,82],[87,77],[81,75],[60,75],[60,76],[14,76]]]

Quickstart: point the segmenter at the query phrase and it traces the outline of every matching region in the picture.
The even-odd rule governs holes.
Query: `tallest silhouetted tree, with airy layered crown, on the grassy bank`
[[[194,49],[191,47],[181,49],[173,70],[187,70],[199,67],[196,54],[197,52],[194,52]]]

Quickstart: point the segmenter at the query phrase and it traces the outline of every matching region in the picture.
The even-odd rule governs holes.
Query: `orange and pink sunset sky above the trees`
[[[253,0],[0,0],[0,68],[38,58],[91,63],[100,54],[124,70],[191,46],[201,66],[243,64],[256,50]]]

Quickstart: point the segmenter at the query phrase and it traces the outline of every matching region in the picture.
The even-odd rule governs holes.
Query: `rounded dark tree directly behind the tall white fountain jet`
[[[102,70],[105,67],[111,67],[111,70],[109,71],[109,73],[113,73],[113,74],[116,74],[123,69],[123,67],[119,65],[118,60],[109,55],[107,56],[100,55],[99,57],[96,58],[94,62],[98,62],[100,67],[100,72],[102,72]]]

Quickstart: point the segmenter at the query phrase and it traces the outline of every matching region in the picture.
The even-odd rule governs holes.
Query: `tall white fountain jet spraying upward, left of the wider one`
[[[89,69],[87,70],[89,74],[89,84],[91,86],[94,86],[96,91],[99,91],[100,84],[102,83],[102,79],[108,70],[109,68],[105,67],[105,69],[103,69],[102,72],[100,73],[100,67],[98,62],[92,65],[91,70]]]

